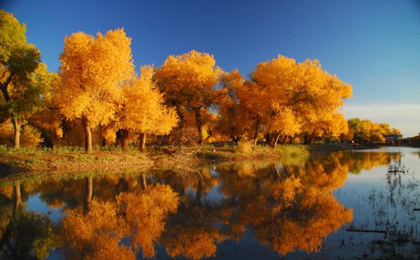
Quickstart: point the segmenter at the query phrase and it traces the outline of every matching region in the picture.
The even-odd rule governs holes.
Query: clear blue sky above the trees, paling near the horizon
[[[162,66],[193,49],[224,71],[245,75],[277,58],[319,60],[353,87],[342,110],[388,123],[403,137],[420,132],[420,1],[43,1],[0,0],[26,24],[28,42],[57,71],[64,37],[124,28],[133,62]]]

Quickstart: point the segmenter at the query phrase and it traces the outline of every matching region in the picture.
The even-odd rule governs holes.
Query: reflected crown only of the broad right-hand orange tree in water
[[[331,193],[305,185],[299,177],[277,184],[267,197],[258,211],[246,208],[253,216],[244,214],[241,220],[260,243],[280,254],[297,248],[317,252],[328,234],[353,218],[352,211],[344,209]]]

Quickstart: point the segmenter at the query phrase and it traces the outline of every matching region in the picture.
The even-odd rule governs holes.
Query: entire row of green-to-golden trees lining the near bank
[[[40,51],[26,43],[25,25],[3,10],[0,17],[0,105],[6,108],[2,121],[12,119],[16,148],[22,124],[41,130],[44,142],[52,144],[72,135],[81,139],[84,132],[87,151],[92,130],[103,144],[115,142],[118,131],[123,149],[135,138],[144,148],[146,135],[166,135],[174,143],[266,139],[275,146],[280,137],[301,135],[308,142],[348,132],[339,111],[352,88],[321,69],[318,60],[296,63],[278,55],[245,78],[237,69],[217,67],[213,55],[193,50],[137,73],[131,38],[117,29],[65,37],[58,73],[49,73]]]

